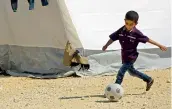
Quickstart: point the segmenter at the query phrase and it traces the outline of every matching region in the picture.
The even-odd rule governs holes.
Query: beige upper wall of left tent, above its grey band
[[[33,11],[28,10],[27,0],[18,5],[14,13],[10,0],[1,1],[1,45],[64,49],[69,40],[75,48],[83,48],[63,0],[51,0],[45,7],[37,0]]]

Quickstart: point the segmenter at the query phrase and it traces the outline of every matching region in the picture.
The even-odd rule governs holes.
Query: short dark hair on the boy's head
[[[128,11],[125,15],[125,20],[131,20],[137,23],[139,14],[136,11]]]

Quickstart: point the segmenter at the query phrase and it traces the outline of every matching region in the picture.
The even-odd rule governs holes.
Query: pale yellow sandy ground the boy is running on
[[[102,95],[115,76],[32,79],[0,77],[0,109],[170,109],[171,68],[145,72],[155,79],[149,92],[145,83],[125,76],[125,95],[109,102]]]

